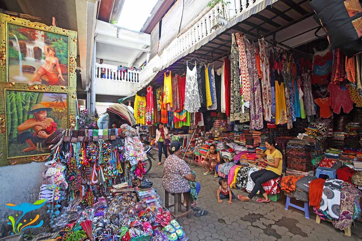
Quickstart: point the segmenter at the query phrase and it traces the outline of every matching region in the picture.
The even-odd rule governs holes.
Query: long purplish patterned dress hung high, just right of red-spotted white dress
[[[244,38],[247,55],[250,91],[250,129],[259,130],[263,128],[263,106],[261,100],[261,87],[256,64],[255,47]]]

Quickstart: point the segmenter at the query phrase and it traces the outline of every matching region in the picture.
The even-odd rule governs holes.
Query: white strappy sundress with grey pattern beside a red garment
[[[188,112],[198,112],[201,107],[199,98],[199,89],[197,84],[197,66],[192,70],[189,69],[186,63],[186,86],[185,86],[185,110]]]

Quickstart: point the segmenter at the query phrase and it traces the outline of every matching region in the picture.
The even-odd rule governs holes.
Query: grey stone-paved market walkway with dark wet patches
[[[157,152],[153,151],[157,157]],[[164,158],[163,158],[164,161]],[[311,212],[311,219],[304,218],[302,211],[290,207],[285,210],[285,198],[278,202],[260,204],[255,201],[240,202],[233,199],[232,204],[226,201],[218,203],[216,190],[217,178],[213,175],[204,176],[205,171],[201,167],[193,167],[196,179],[201,184],[201,192],[198,196],[198,207],[207,209],[209,214],[196,218],[179,218],[178,221],[184,227],[185,233],[191,241],[201,240],[361,240],[362,223],[356,221],[352,226],[352,236],[344,235],[327,221],[315,222],[315,214]],[[151,171],[146,178],[153,182],[153,187],[164,202],[164,189],[162,187],[163,165],[157,166],[153,162]],[[233,189],[235,195],[243,194],[242,191]]]

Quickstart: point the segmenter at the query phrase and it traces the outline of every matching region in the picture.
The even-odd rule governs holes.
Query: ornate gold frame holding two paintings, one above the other
[[[44,161],[74,125],[77,33],[0,14],[0,41],[0,166]]]

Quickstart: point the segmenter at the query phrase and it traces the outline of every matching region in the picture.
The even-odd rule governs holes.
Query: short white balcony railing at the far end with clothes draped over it
[[[96,78],[109,79],[115,81],[126,81],[133,83],[142,82],[141,71],[137,70],[122,70],[116,65],[110,64],[96,64]]]

